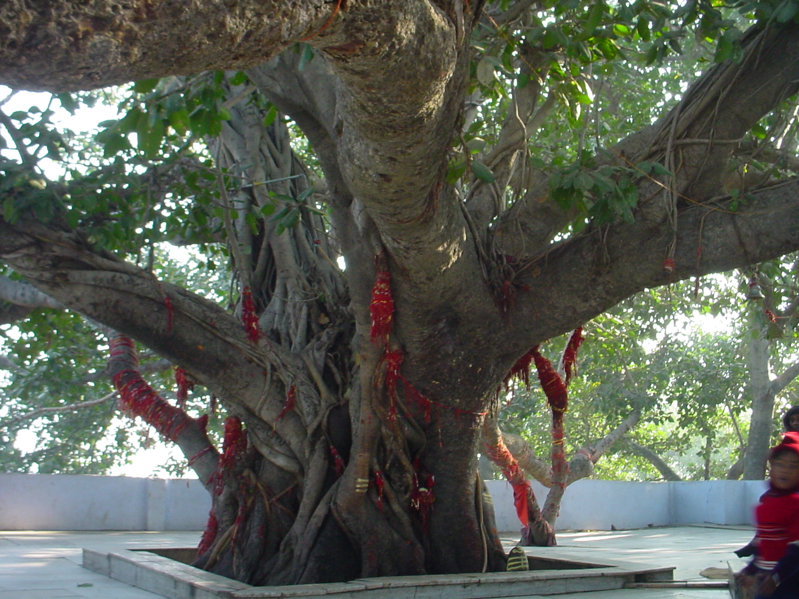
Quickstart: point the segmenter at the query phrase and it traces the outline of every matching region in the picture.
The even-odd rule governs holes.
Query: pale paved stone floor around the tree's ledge
[[[137,589],[113,578],[81,567],[83,547],[124,547],[197,545],[199,532],[0,532],[0,599],[159,599],[161,596]],[[559,549],[575,557],[602,557],[675,565],[675,578],[704,580],[701,569],[726,567],[729,561],[739,569],[745,563],[731,553],[745,545],[752,530],[731,527],[678,526],[614,532],[563,532]],[[512,545],[513,534],[503,535]],[[559,595],[574,599],[726,599],[723,589],[624,589],[596,593]],[[528,599],[531,599],[528,597]]]

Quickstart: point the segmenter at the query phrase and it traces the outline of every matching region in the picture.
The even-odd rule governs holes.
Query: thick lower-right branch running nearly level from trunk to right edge
[[[679,215],[675,268],[662,268],[673,228],[638,219],[575,236],[523,266],[509,332],[519,355],[532,344],[586,323],[645,288],[770,260],[799,248],[799,180],[754,192],[738,212],[729,204],[694,205]],[[539,314],[550,315],[546,320]],[[554,315],[554,316],[552,316]]]

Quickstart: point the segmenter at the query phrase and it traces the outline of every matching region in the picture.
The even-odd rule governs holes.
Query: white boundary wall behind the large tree
[[[513,492],[486,481],[499,530],[519,530]],[[566,488],[560,530],[749,524],[763,481],[622,482]],[[547,489],[533,490],[543,505]],[[0,530],[202,530],[211,500],[197,479],[0,474]],[[435,506],[434,506],[435,509]]]

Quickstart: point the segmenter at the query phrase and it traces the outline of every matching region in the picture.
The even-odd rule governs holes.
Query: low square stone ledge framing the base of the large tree
[[[164,551],[165,549],[157,549]],[[183,548],[167,549],[180,553]],[[673,567],[585,558],[557,548],[525,547],[532,563],[554,569],[360,578],[319,585],[251,586],[147,550],[83,549],[85,568],[169,599],[486,599],[622,589],[636,582],[668,581]],[[573,565],[573,569],[564,566]]]

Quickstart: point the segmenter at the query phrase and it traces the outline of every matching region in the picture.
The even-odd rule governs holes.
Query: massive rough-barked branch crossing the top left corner
[[[324,0],[9,0],[0,6],[0,83],[59,92],[240,69],[319,32],[336,6]],[[315,42],[339,38],[342,20]]]

